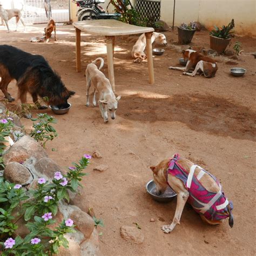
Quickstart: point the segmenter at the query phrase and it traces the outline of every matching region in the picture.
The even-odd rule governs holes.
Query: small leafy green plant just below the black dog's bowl
[[[38,118],[31,118],[32,121],[37,123],[33,123],[34,130],[30,133],[30,136],[45,147],[45,143],[48,140],[53,140],[58,135],[56,130],[50,125],[50,123],[56,124],[57,121],[46,113],[37,114],[37,116]]]

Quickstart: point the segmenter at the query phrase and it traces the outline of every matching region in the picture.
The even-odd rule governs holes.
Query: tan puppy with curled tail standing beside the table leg
[[[99,69],[95,65],[97,62],[100,62]],[[103,72],[99,71],[102,69],[104,65],[103,58],[97,58],[94,60],[91,64],[87,65],[85,76],[86,76],[86,106],[89,106],[89,90],[91,86],[91,82],[94,86],[93,90],[93,99],[92,104],[93,106],[96,106],[96,90],[99,92],[99,109],[100,113],[102,113],[102,117],[104,119],[104,122],[109,122],[109,119],[107,117],[107,111],[110,112],[111,118],[116,118],[116,110],[118,105],[118,100],[121,98],[121,96],[116,97],[112,91],[112,86],[109,82],[109,79],[107,79]]]

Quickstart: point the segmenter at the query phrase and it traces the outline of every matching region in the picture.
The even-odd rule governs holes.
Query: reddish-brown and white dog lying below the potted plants
[[[184,60],[187,60],[185,68],[169,66],[169,69],[184,71],[183,75],[192,77],[196,76],[197,72],[203,73],[207,78],[215,76],[218,67],[214,59],[190,49],[183,50],[182,53]],[[194,71],[192,73],[188,73],[188,71],[191,69],[194,69]]]

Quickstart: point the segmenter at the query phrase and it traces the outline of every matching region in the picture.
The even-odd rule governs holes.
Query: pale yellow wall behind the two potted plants
[[[173,0],[161,0],[161,19],[172,25]],[[256,36],[256,0],[176,0],[174,25],[199,21],[207,29],[227,25],[234,18],[235,33]]]

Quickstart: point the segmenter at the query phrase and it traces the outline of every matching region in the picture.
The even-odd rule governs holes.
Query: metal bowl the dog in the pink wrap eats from
[[[154,183],[153,180],[150,180],[146,184],[146,190],[147,190],[147,193],[149,193],[150,196],[158,202],[170,202],[174,197],[177,196],[177,194],[169,186],[166,188],[166,191],[163,194],[161,194],[160,196],[157,196],[156,184]]]

